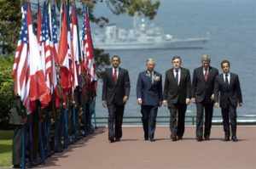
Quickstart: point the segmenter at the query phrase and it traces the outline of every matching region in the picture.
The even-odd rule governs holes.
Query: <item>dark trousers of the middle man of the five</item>
[[[170,130],[177,137],[183,137],[185,131],[185,113],[187,104],[169,104],[170,110]]]

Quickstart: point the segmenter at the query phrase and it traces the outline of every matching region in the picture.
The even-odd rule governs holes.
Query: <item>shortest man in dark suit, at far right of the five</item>
[[[221,108],[225,134],[224,141],[230,141],[231,125],[232,140],[237,142],[236,107],[237,103],[239,106],[242,105],[240,82],[235,73],[230,73],[230,61],[223,60],[221,68],[223,73],[216,77],[214,84],[214,105]]]

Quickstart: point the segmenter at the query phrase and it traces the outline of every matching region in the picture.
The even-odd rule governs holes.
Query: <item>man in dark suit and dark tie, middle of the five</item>
[[[173,68],[166,70],[163,104],[170,110],[170,130],[172,141],[183,139],[185,112],[190,102],[191,80],[188,69],[181,67],[180,56],[172,58]]]

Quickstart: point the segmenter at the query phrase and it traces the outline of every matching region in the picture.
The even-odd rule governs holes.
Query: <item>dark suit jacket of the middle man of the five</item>
[[[191,80],[189,70],[181,69],[180,82],[177,86],[177,81],[173,74],[173,68],[166,70],[166,81],[164,87],[164,100],[167,99],[169,104],[185,104],[186,99],[190,99]]]

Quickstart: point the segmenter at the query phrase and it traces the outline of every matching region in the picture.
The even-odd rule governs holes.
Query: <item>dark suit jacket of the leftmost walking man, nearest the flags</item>
[[[128,71],[119,67],[117,84],[113,82],[113,68],[105,70],[102,86],[102,101],[106,100],[107,104],[123,105],[123,98],[129,97],[130,78]]]

